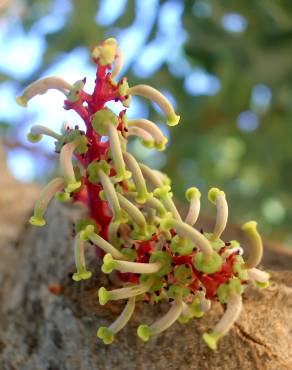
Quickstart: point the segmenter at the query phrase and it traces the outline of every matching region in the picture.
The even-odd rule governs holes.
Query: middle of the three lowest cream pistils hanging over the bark
[[[171,309],[152,325],[140,325],[137,330],[139,338],[147,342],[150,337],[162,333],[168,329],[179,318],[182,313],[182,299],[177,299],[172,303]]]

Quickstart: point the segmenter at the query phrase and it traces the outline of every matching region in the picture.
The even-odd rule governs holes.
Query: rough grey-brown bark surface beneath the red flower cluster
[[[46,227],[24,227],[36,187],[12,182],[5,189],[14,192],[14,200],[5,198],[9,196],[3,195],[2,185],[0,199],[0,369],[292,369],[292,272],[272,272],[270,288],[247,291],[240,319],[217,352],[206,347],[201,335],[222,315],[219,304],[203,319],[176,323],[143,343],[136,335],[139,323],[151,323],[168,306],[141,302],[112,345],[98,341],[96,329],[112,322],[123,302],[99,306],[97,289],[110,282],[100,275],[91,251],[87,257],[94,277],[81,283],[71,280],[70,222],[76,210],[54,204]],[[14,231],[6,233],[11,225]],[[289,256],[282,257],[283,265],[289,258],[292,266]],[[281,258],[275,262],[271,253],[269,261],[268,267],[281,267]],[[50,293],[50,284],[61,284],[61,294]]]

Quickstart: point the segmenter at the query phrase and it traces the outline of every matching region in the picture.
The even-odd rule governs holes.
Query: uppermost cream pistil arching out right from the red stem
[[[143,96],[144,98],[152,100],[159,105],[166,115],[167,124],[169,126],[175,126],[178,124],[180,116],[176,115],[169,100],[158,90],[148,85],[136,85],[129,89],[129,94]]]

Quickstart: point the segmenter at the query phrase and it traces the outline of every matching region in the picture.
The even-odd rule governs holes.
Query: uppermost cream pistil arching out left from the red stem
[[[27,107],[30,99],[35,95],[46,93],[49,89],[59,90],[67,96],[72,85],[60,77],[45,77],[27,86],[22,95],[16,98],[16,102],[22,107]]]

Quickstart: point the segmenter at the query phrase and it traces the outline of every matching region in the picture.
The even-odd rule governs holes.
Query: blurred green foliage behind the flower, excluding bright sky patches
[[[212,186],[221,187],[227,193],[233,221],[257,219],[266,235],[292,244],[291,1],[172,0],[160,1],[157,6],[170,2],[183,4],[181,22],[186,37],[182,48],[178,45],[180,59],[174,65],[165,58],[147,79],[140,78],[131,66],[127,75],[131,84],[143,80],[169,91],[176,100],[181,123],[170,130],[172,140],[164,170],[172,178],[177,196],[183,199],[188,186],[198,186],[203,194]],[[133,24],[139,11],[134,0],[125,3],[115,23],[102,27],[95,19],[99,1],[72,0],[64,26],[44,36],[43,63],[22,84],[38,78],[60,56],[78,46],[91,47],[112,34],[118,37]],[[53,1],[26,0],[23,4],[21,21],[29,32]],[[242,32],[231,32],[222,25],[222,17],[233,13],[246,22]],[[159,22],[158,9],[145,49],[160,35]],[[188,93],[186,65],[190,71],[200,69],[216,76],[218,93]],[[80,74],[83,77],[82,71]],[[7,78],[0,74],[0,82]],[[257,86],[270,91],[269,102],[253,98]],[[258,127],[242,130],[242,112],[251,112]],[[150,117],[159,119],[152,108]]]

